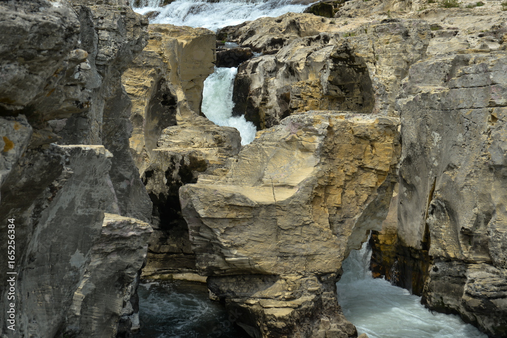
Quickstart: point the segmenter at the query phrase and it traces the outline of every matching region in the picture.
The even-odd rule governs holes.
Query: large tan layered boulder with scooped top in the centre
[[[250,335],[356,334],[335,283],[386,216],[397,128],[395,118],[293,115],[245,146],[225,176],[180,189],[197,267]]]

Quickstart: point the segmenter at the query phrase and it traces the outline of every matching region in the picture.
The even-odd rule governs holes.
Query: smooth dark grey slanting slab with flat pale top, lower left
[[[112,199],[107,184],[110,157],[103,146],[52,146],[47,151],[25,152],[11,173],[17,182],[2,191],[2,220],[4,224],[7,218],[16,221],[16,327],[20,335],[39,337],[44,332],[53,336],[64,323],[91,247],[100,236],[101,210]],[[39,174],[34,170],[40,170]],[[33,195],[24,193],[26,189]],[[6,227],[2,233],[7,233]],[[3,274],[6,268],[0,268]],[[7,288],[2,290],[5,311]],[[41,303],[45,306],[40,307]],[[3,327],[4,320],[0,319]]]

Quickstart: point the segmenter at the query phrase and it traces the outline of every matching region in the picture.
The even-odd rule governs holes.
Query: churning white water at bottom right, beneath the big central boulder
[[[371,254],[368,242],[352,250],[336,283],[338,303],[359,334],[370,338],[487,337],[458,316],[432,313],[421,305],[420,297],[384,279],[374,279],[369,271]]]

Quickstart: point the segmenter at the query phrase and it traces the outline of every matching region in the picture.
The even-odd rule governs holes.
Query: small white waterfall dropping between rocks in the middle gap
[[[232,91],[237,71],[238,68],[234,67],[215,67],[215,71],[204,81],[201,110],[213,123],[239,130],[241,144],[245,145],[253,141],[257,129],[244,116],[232,116]]]

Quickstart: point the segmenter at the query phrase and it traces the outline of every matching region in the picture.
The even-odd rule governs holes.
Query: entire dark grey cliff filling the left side
[[[127,331],[135,321],[151,203],[129,155],[120,77],[145,44],[147,21],[124,5],[0,5],[2,238],[15,224],[14,267],[0,273],[16,273],[15,298],[4,279],[0,308],[14,301],[14,336],[114,336],[121,319]],[[7,252],[7,241],[0,247]],[[12,324],[3,316],[2,333]]]

